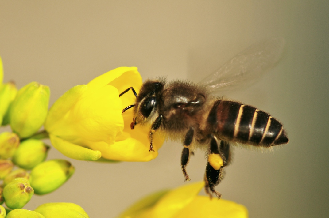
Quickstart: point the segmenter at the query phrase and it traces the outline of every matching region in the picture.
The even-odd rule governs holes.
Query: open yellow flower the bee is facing
[[[133,110],[122,109],[135,102],[142,78],[136,67],[119,67],[68,90],[50,108],[44,124],[53,146],[67,157],[97,160],[149,161],[163,143],[155,138],[155,152],[149,152],[150,127],[130,129]]]

